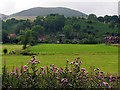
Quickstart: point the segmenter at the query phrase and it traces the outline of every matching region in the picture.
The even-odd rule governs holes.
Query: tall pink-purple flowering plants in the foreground
[[[13,65],[11,73],[4,64],[2,88],[118,88],[120,77],[105,75],[99,68],[88,73],[81,68],[79,59],[66,60],[64,68],[57,68],[54,64],[40,67],[40,61],[32,56],[27,65],[21,65],[20,71],[14,70]]]

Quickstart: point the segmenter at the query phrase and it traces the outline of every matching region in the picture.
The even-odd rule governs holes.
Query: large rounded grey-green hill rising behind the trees
[[[15,13],[10,15],[10,17],[15,17],[15,16],[46,16],[51,13],[57,13],[64,15],[65,17],[87,17],[88,15],[72,10],[69,8],[63,8],[63,7],[57,7],[57,8],[42,8],[42,7],[36,7],[36,8],[31,8],[28,10],[23,10],[21,12]]]

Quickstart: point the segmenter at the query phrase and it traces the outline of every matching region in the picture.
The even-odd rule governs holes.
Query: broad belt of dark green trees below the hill
[[[64,17],[59,14],[49,14],[46,17],[38,16],[34,21],[8,19],[3,22],[3,43],[21,42],[26,47],[29,42],[35,45],[42,36],[61,40],[59,34],[64,34],[64,40],[77,39],[84,43],[104,42],[106,36],[117,36],[119,19],[118,16],[97,17],[90,14],[88,18]],[[10,40],[9,33],[15,33],[20,37]],[[25,38],[26,37],[26,38]],[[22,38],[22,39],[21,39]],[[101,41],[100,41],[101,40]]]

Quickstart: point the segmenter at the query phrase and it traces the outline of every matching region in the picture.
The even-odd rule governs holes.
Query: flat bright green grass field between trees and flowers
[[[21,45],[3,45],[2,49],[20,50]],[[40,66],[55,64],[57,67],[63,67],[66,59],[74,61],[80,57],[82,67],[89,70],[90,66],[100,68],[106,73],[118,73],[118,48],[115,46],[106,46],[104,44],[97,45],[79,45],[79,44],[38,44],[30,48],[31,51],[39,53],[37,60]],[[2,63],[6,60],[8,70],[12,69],[12,65],[20,68],[25,65],[31,56],[22,55],[3,55]],[[3,64],[2,64],[3,65]]]

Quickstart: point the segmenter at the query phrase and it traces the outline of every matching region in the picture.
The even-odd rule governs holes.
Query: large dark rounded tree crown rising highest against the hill
[[[49,14],[44,20],[44,28],[48,33],[61,31],[64,27],[65,17],[59,14]]]

